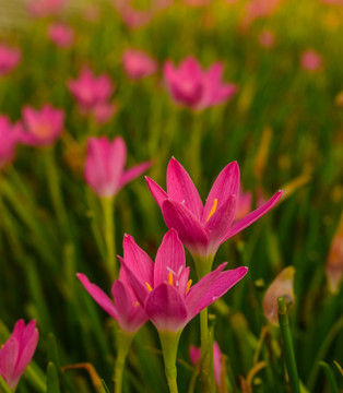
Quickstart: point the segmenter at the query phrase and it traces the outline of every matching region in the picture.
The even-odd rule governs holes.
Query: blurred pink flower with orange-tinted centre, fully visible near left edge
[[[35,110],[29,106],[23,108],[25,131],[22,141],[31,146],[49,146],[63,131],[64,112],[62,109],[44,105]]]

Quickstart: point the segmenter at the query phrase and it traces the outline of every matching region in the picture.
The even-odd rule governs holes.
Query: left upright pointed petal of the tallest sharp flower
[[[167,193],[170,199],[181,202],[200,221],[203,205],[199,192],[182,165],[174,157],[167,168]]]

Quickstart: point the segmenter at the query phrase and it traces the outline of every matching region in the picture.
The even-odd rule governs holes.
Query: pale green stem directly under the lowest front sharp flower
[[[181,330],[177,333],[174,332],[158,332],[162,345],[164,369],[168,381],[169,392],[178,393],[177,388],[177,369],[176,369],[176,355],[181,335]]]

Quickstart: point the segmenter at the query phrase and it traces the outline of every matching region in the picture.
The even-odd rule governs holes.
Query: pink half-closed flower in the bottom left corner
[[[10,338],[0,349],[0,374],[10,386],[15,389],[22,373],[34,356],[38,343],[36,321],[27,326],[23,320],[15,323]]]

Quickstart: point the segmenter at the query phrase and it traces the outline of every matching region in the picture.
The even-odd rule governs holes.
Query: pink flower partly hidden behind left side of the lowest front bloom
[[[147,321],[145,311],[139,305],[123,269],[120,269],[119,279],[116,279],[111,287],[115,302],[109,299],[103,289],[92,284],[84,274],[78,273],[76,276],[86,291],[118,322],[123,332],[135,333]]]

